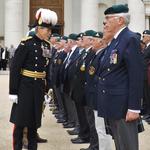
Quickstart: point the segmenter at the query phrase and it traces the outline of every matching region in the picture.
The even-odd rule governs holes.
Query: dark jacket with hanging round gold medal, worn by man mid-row
[[[87,69],[87,65],[90,60],[94,56],[94,52],[89,50],[88,52],[83,52],[81,57],[77,59],[72,66],[69,68],[70,74],[70,89],[71,89],[71,97],[74,101],[80,102],[83,105],[85,104],[85,72]],[[74,70],[74,72],[73,72]],[[73,72],[73,73],[72,73]]]

